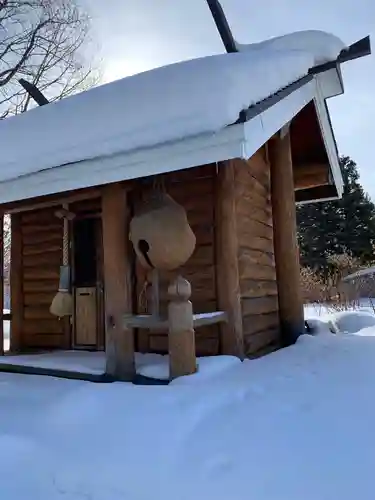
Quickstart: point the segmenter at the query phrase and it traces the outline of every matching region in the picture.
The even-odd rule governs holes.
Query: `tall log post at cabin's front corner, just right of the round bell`
[[[221,353],[244,357],[241,291],[238,273],[235,161],[218,165],[215,207],[218,309],[228,315],[220,325]]]

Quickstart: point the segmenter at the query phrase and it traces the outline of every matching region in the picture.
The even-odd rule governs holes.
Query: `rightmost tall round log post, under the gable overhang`
[[[304,332],[304,313],[289,129],[282,129],[269,148],[280,326],[284,345],[290,345]]]

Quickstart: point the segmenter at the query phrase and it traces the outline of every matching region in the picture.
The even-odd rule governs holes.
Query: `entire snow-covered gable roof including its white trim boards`
[[[329,37],[326,52],[340,55]],[[283,42],[158,68],[3,120],[0,202],[249,158],[310,101],[334,143],[325,99],[343,92],[337,59]],[[334,171],[337,150],[331,156]]]

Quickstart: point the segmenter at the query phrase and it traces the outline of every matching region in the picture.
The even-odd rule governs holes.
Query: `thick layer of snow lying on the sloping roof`
[[[294,33],[240,53],[157,68],[2,120],[0,181],[217,132],[316,61],[335,59],[339,49],[333,35]]]

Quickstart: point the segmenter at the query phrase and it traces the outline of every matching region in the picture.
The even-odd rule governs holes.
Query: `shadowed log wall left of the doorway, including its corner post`
[[[64,321],[49,312],[59,285],[63,224],[56,207],[12,216],[12,344],[15,350],[69,348]],[[21,277],[21,279],[20,279]]]

